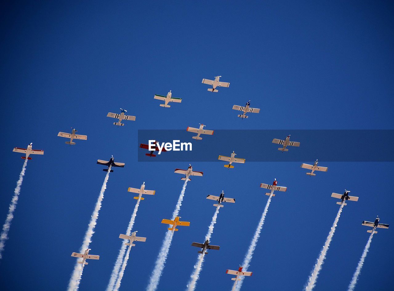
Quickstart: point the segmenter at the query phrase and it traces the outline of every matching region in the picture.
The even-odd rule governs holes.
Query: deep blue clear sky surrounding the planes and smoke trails
[[[132,249],[121,290],[145,289],[165,235],[160,221],[170,218],[182,187],[173,171],[188,162],[138,162],[138,129],[393,129],[390,2],[9,2],[0,13],[2,219],[23,162],[13,147],[33,142],[45,150],[28,162],[0,262],[6,289],[67,288],[70,255],[104,180],[96,160],[111,155],[126,166],[110,175],[90,246],[100,260],[86,267],[80,290],[105,289],[136,201],[127,188],[143,181],[156,190],[141,201],[134,227],[147,241]],[[216,75],[230,87],[213,94],[201,79]],[[182,103],[162,108],[153,95],[169,90]],[[249,99],[262,110],[241,120],[232,105]],[[106,114],[119,107],[136,121],[112,125]],[[70,127],[87,141],[65,145],[56,135]],[[214,144],[215,135],[201,142]],[[392,155],[391,145],[386,150]],[[266,152],[277,154],[275,146]],[[346,289],[368,239],[362,220],[394,223],[392,163],[320,162],[329,170],[312,178],[299,162],[233,170],[193,162],[204,176],[186,188],[180,215],[191,225],[175,233],[159,290],[186,288],[197,259],[190,244],[203,242],[215,210],[205,197],[221,190],[236,204],[219,213],[211,241],[221,249],[206,257],[196,290],[230,290],[225,270],[242,263],[268,198],[259,185],[274,178],[288,190],[271,202],[243,290],[303,289],[338,210],[331,192],[345,188],[360,199],[344,208],[315,290]],[[392,290],[393,239],[392,229],[374,237],[357,290]]]

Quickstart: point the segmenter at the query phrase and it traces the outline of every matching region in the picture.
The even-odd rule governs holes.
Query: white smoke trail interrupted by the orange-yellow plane
[[[180,195],[178,198],[177,205],[175,206],[172,220],[179,214],[180,206],[182,205],[182,200],[185,195],[186,185],[188,184],[189,176],[186,176],[185,183],[183,184],[182,190],[180,191]],[[155,291],[160,281],[160,277],[162,276],[162,272],[164,269],[165,261],[167,260],[167,255],[171,246],[171,242],[174,236],[174,231],[167,231],[165,234],[162,248],[157,256],[156,263],[154,269],[151,274],[151,278],[149,278],[149,284],[147,287],[147,291]]]

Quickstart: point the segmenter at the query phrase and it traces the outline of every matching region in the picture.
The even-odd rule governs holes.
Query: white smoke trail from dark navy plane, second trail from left
[[[84,237],[84,242],[82,243],[82,246],[80,248],[81,254],[84,254],[85,250],[87,248],[89,248],[89,244],[92,242],[92,235],[93,235],[93,233],[95,233],[94,229],[97,224],[97,218],[99,217],[99,211],[101,208],[101,202],[104,198],[104,192],[105,192],[105,189],[107,188],[107,182],[108,182],[108,177],[110,175],[110,170],[111,170],[111,166],[108,167],[108,172],[105,175],[104,183],[102,184],[99,198],[97,198],[95,209],[93,210],[89,225],[87,227],[85,237]],[[81,277],[82,277],[83,269],[84,269],[84,266],[82,266],[82,264],[75,263],[74,271],[72,272],[72,275],[70,278],[69,287],[67,288],[68,291],[78,290],[79,284],[81,281]]]

